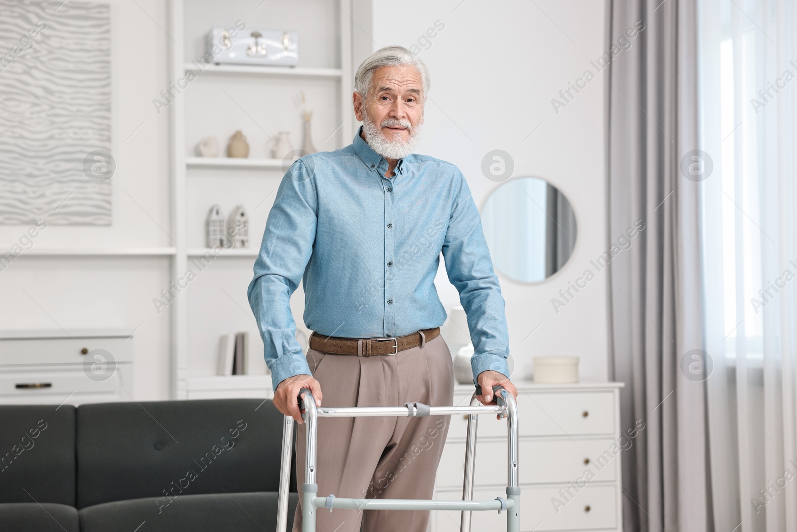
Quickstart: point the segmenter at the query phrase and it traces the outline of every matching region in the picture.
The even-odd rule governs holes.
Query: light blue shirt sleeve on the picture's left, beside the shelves
[[[304,161],[296,160],[282,179],[246,289],[275,390],[289,376],[312,375],[290,305],[316,238],[318,199],[308,172]]]

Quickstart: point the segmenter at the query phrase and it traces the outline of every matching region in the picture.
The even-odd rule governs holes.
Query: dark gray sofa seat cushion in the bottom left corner
[[[55,408],[55,407],[53,407]],[[53,408],[50,408],[51,410]],[[296,495],[298,497],[298,495]],[[77,510],[53,502],[6,502],[0,504],[3,532],[79,532]]]

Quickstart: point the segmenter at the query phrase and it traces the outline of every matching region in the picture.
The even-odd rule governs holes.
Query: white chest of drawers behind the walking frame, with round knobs
[[[518,381],[520,530],[622,530],[620,459],[633,443],[620,434],[622,384],[542,385]],[[454,404],[472,386],[457,384]],[[452,416],[435,483],[435,499],[461,499],[466,416]],[[473,499],[504,496],[506,421],[479,416]],[[477,511],[471,530],[503,532],[505,514]],[[431,532],[459,530],[459,512],[431,512]]]

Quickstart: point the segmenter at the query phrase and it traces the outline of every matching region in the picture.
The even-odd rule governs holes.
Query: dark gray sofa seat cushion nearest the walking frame
[[[288,530],[292,529],[293,513],[298,502],[299,495],[290,494]],[[80,527],[83,532],[132,532],[139,527],[147,532],[276,530],[277,494],[261,492],[179,495],[167,504],[157,498],[105,502],[81,509]]]

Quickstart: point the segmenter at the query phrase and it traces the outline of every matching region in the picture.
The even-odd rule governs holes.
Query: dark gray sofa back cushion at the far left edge
[[[74,506],[75,407],[0,407],[0,502]]]

